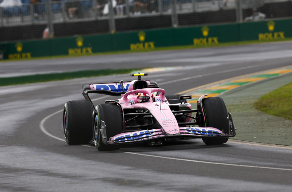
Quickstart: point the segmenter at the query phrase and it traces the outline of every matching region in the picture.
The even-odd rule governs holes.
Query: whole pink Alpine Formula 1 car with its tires
[[[94,143],[99,151],[117,150],[121,144],[162,145],[172,139],[201,138],[207,145],[226,143],[235,136],[231,114],[220,97],[204,98],[192,109],[191,95],[165,95],[147,73],[131,74],[131,82],[83,85],[85,100],[64,106],[64,135],[69,145]],[[95,108],[89,93],[120,96]],[[192,114],[195,114],[193,116]]]

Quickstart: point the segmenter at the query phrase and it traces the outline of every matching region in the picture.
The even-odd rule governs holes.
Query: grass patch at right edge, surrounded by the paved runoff
[[[292,82],[262,96],[254,106],[264,113],[292,120]]]

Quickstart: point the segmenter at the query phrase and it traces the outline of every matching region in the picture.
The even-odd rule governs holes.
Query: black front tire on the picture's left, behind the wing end
[[[101,123],[105,124],[105,139],[101,135]],[[109,138],[123,132],[120,107],[116,104],[98,104],[93,116],[93,141],[98,151],[119,150],[120,145],[107,145]]]

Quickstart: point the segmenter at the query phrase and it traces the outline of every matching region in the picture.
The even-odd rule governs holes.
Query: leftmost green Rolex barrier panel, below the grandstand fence
[[[51,55],[48,40],[10,42],[6,43],[5,48],[5,59],[26,59]]]

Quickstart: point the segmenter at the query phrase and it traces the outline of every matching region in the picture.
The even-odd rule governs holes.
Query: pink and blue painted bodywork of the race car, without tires
[[[123,109],[127,108],[146,108],[149,110],[151,115],[158,121],[161,128],[160,129],[152,129],[152,130],[142,130],[142,131],[134,131],[121,133],[110,138],[108,143],[118,143],[118,142],[127,142],[131,139],[134,140],[147,140],[153,139],[155,137],[161,136],[170,136],[170,135],[191,135],[191,134],[199,134],[199,135],[222,135],[222,131],[214,128],[214,127],[179,127],[176,117],[172,113],[169,108],[169,103],[165,98],[165,90],[161,88],[143,88],[133,90],[133,85],[137,80],[133,80],[131,82],[123,82],[124,90],[127,91],[125,94],[121,94],[121,99],[118,100],[118,105]],[[149,84],[149,81],[147,81]],[[106,83],[106,84],[90,84],[91,90],[96,90],[97,86],[99,89],[121,92],[119,91],[119,83]],[[121,88],[121,87],[120,87]],[[149,102],[145,103],[137,103],[137,94],[138,93],[146,93],[150,97],[152,93],[157,96],[154,96],[153,100],[150,98]],[[166,102],[163,102],[166,101]],[[191,109],[191,104],[187,103],[187,106]],[[191,113],[189,114],[191,116]],[[186,122],[190,122],[191,118],[187,117]],[[205,125],[206,126],[206,125]],[[125,124],[124,124],[125,127]],[[225,134],[223,134],[225,135]],[[131,139],[126,139],[131,138]]]

